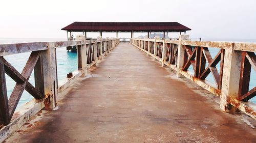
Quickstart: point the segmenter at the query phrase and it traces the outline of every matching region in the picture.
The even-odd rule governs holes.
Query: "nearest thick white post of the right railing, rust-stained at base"
[[[229,97],[238,97],[240,68],[241,68],[241,51],[233,50],[232,47],[227,47],[224,54],[223,77],[220,108],[226,112],[234,112],[237,109],[228,103]]]

